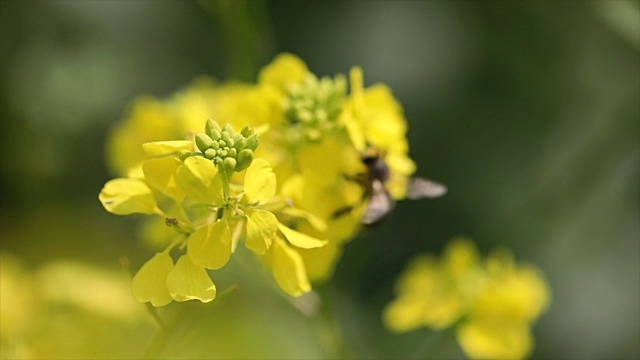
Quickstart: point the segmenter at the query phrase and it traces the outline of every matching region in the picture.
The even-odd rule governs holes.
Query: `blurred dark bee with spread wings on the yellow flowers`
[[[369,203],[361,222],[363,225],[373,226],[384,220],[396,205],[396,199],[386,189],[391,170],[380,151],[376,149],[366,150],[361,154],[360,159],[366,166],[366,173],[349,179],[363,186],[362,201],[369,200]],[[411,200],[436,198],[447,192],[445,185],[420,177],[412,177],[407,186],[407,198]],[[352,207],[338,209],[333,213],[333,218],[339,218],[351,210]]]

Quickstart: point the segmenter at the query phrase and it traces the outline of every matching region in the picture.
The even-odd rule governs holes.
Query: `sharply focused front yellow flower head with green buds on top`
[[[152,158],[142,163],[142,178],[105,184],[99,199],[107,211],[156,214],[178,234],[134,276],[138,301],[163,306],[173,300],[213,300],[216,287],[207,269],[219,269],[229,261],[243,233],[236,229],[245,230],[245,245],[265,258],[285,292],[299,296],[310,290],[295,249],[322,247],[326,241],[296,231],[274,215],[272,209],[284,203],[276,196],[276,178],[268,162],[254,159],[259,143],[249,126],[236,132],[229,124],[220,127],[209,120],[193,142],[144,144]],[[238,183],[234,179],[240,173],[244,177]],[[186,248],[175,264],[174,248]]]

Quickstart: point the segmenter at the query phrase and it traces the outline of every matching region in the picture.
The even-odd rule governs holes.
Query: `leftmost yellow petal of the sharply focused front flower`
[[[100,191],[98,199],[108,212],[116,215],[150,215],[157,210],[156,199],[151,189],[144,181],[138,179],[110,180]]]

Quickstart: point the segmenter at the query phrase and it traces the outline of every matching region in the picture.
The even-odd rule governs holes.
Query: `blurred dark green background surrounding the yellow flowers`
[[[123,256],[137,269],[151,251],[136,219],[97,199],[113,177],[109,129],[137,95],[166,97],[201,74],[253,81],[281,51],[318,75],[361,65],[367,85],[388,84],[418,175],[449,186],[444,198],[400,203],[346,247],[328,288],[350,356],[462,356],[452,340],[421,353],[429,331],[389,334],[379,314],[408,259],[464,234],[545,271],[553,302],[534,358],[640,357],[637,1],[1,1],[0,251],[27,271],[64,259],[117,272]],[[266,294],[258,308],[243,289],[214,309],[185,305],[209,317],[183,321],[164,356],[327,356],[284,297],[255,287],[244,293]],[[110,334],[64,314],[41,331]],[[155,331],[143,324],[96,335],[98,350],[40,347],[137,357]]]

